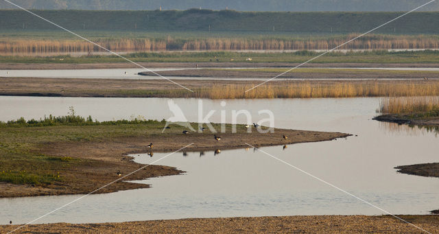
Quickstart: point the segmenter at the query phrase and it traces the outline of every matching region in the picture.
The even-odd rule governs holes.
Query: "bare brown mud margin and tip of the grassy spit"
[[[283,134],[289,137],[283,139]],[[143,167],[144,165],[134,163],[132,157],[127,154],[150,152],[147,145],[154,143],[154,152],[174,152],[186,145],[186,151],[202,150],[226,150],[233,148],[248,148],[246,143],[256,147],[264,145],[285,145],[292,143],[331,141],[339,137],[348,137],[350,134],[340,132],[313,132],[302,130],[276,129],[274,133],[261,134],[256,130],[251,133],[224,133],[222,140],[216,141],[213,134],[191,132],[191,134],[161,134],[154,137],[119,137],[106,141],[68,141],[59,143],[45,143],[40,145],[38,152],[49,156],[69,155],[74,159],[88,159],[89,163],[80,163],[74,170],[65,172],[62,182],[51,185],[10,185],[0,183],[0,198],[20,196],[44,196],[62,194],[88,194],[99,187],[102,187],[119,176]],[[184,169],[184,168],[182,168]],[[162,165],[150,165],[139,172],[123,178],[117,183],[105,187],[96,193],[110,193],[120,190],[140,189],[149,185],[130,183],[129,180],[143,180],[150,177],[169,176],[180,174],[182,171],[174,167]],[[127,182],[128,181],[128,182]]]

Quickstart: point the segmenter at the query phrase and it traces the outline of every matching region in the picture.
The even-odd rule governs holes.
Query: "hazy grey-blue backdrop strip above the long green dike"
[[[428,0],[12,0],[28,9],[42,10],[187,10],[202,8],[240,11],[407,11]],[[0,8],[14,6],[0,1]],[[439,2],[430,3],[423,11],[438,11]]]

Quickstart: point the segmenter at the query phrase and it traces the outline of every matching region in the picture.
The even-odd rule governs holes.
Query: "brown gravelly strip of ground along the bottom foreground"
[[[434,233],[436,215],[400,215],[411,224]],[[0,226],[8,232],[17,225]],[[191,218],[102,224],[38,224],[19,229],[25,233],[425,233],[390,215],[313,215],[251,218]]]

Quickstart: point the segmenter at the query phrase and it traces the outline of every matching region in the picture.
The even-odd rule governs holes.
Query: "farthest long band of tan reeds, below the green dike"
[[[93,41],[114,51],[165,50],[309,50],[331,49],[356,34],[337,38],[95,38]],[[437,36],[370,35],[348,43],[340,49],[438,49]],[[65,38],[1,38],[0,53],[94,52],[102,48],[82,40]]]

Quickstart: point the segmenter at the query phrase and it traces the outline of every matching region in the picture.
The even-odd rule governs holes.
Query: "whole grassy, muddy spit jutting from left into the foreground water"
[[[162,133],[165,123],[152,121],[140,124],[105,124],[91,126],[2,126],[0,131],[0,198],[61,194],[87,194],[122,175],[143,167],[127,154],[174,152],[185,145],[187,151],[248,148],[246,143],[260,147],[292,143],[330,141],[349,134],[276,129],[262,134],[247,132],[244,126],[226,126],[221,141],[213,132],[191,132],[171,126]],[[219,129],[219,125],[214,125]],[[198,129],[198,126],[193,125]],[[288,139],[283,139],[283,135]],[[182,168],[184,169],[184,168]],[[180,174],[174,167],[150,165],[123,178],[97,193],[139,189],[149,185],[130,183],[156,176]]]

